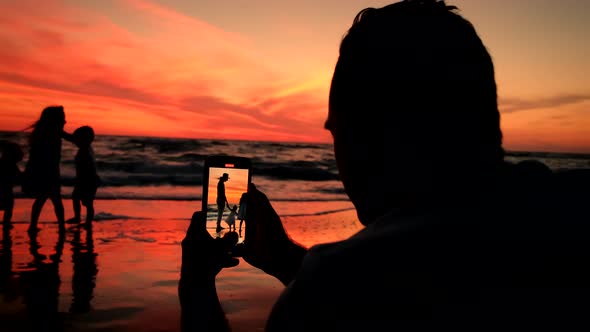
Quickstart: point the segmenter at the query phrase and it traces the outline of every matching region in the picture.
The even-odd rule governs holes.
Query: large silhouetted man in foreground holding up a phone
[[[249,188],[239,251],[286,286],[267,331],[590,328],[588,219],[529,199],[553,194],[530,187],[551,175],[504,161],[492,59],[455,7],[360,11],[325,127],[365,228],[308,250]],[[182,242],[182,321],[227,331],[215,277],[238,264],[237,236],[213,239],[205,224],[195,212]]]

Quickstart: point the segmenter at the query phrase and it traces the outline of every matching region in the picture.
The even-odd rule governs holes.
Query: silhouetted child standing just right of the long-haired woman
[[[100,185],[100,177],[96,172],[96,161],[92,150],[94,130],[89,126],[79,127],[74,130],[69,140],[78,147],[78,152],[75,157],[76,179],[72,191],[74,218],[68,222],[80,222],[80,203],[82,203],[86,207],[86,226],[90,227],[94,219],[94,198]]]

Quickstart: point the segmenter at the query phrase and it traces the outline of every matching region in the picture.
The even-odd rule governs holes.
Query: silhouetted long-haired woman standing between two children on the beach
[[[37,232],[39,215],[49,198],[53,203],[59,230],[65,230],[64,206],[61,199],[61,140],[66,115],[63,106],[48,106],[30,128],[29,159],[25,166],[22,189],[34,198],[29,232]]]

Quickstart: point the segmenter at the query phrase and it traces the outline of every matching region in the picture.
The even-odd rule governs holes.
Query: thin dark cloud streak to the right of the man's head
[[[566,94],[528,100],[520,98],[500,98],[499,108],[502,113],[514,113],[538,108],[560,107],[588,100],[590,100],[589,94]]]

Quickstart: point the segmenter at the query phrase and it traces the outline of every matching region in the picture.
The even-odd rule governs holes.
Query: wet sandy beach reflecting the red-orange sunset
[[[14,227],[2,233],[2,331],[28,330],[36,315],[54,315],[64,331],[179,331],[180,242],[199,202],[98,200],[92,232],[68,226],[62,238],[47,202],[38,245],[31,245],[35,241],[26,232],[31,204],[18,199]],[[72,216],[70,201],[64,205],[66,218]],[[361,228],[349,202],[273,206],[279,214],[305,212],[284,217],[283,223],[306,247],[344,239]],[[213,234],[214,227],[208,229]],[[222,306],[236,332],[262,330],[282,289],[278,280],[242,259],[217,277]]]

